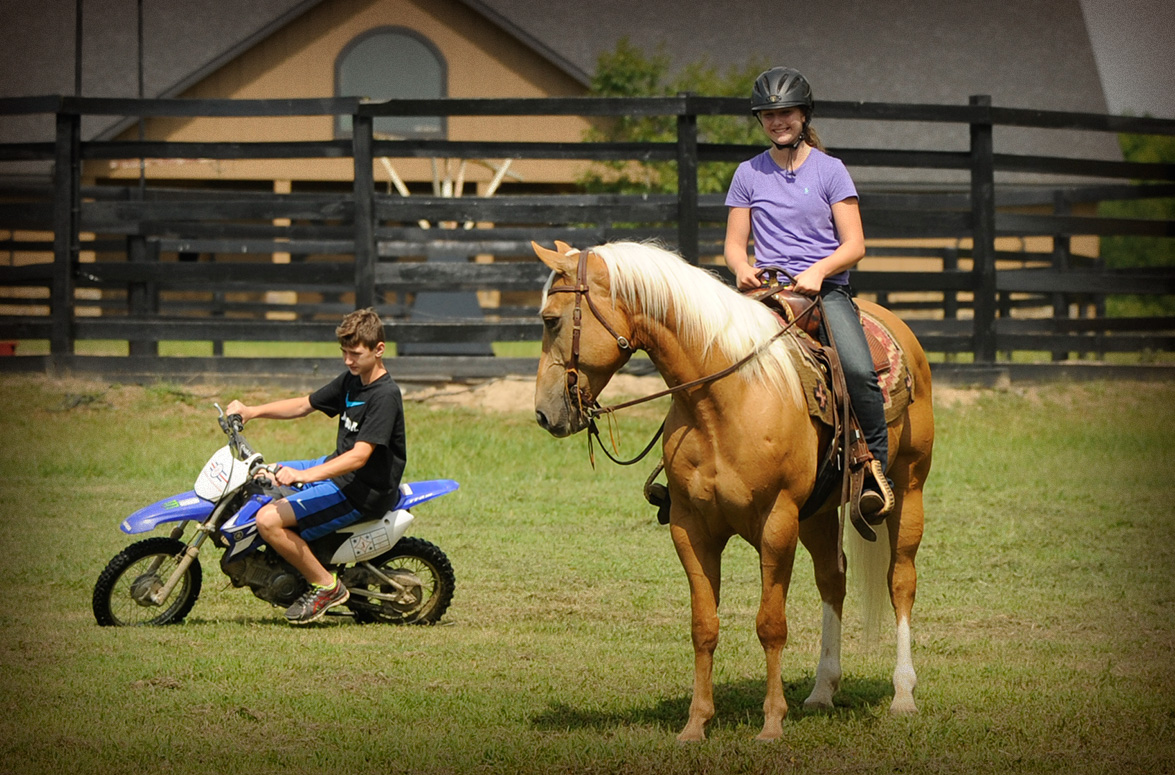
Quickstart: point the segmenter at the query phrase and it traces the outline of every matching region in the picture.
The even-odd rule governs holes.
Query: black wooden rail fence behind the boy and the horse
[[[4,162],[53,162],[53,186],[0,188],[0,251],[43,261],[0,265],[0,341],[49,342],[48,356],[0,358],[0,370],[98,371],[109,375],[298,371],[317,360],[224,357],[224,342],[329,342],[335,321],[355,306],[376,306],[389,341],[402,351],[421,343],[481,344],[537,341],[533,302],[427,316],[414,299],[428,294],[537,291],[545,269],[531,240],[589,245],[613,238],[658,238],[698,262],[721,251],[720,195],[700,196],[699,164],[741,161],[759,148],[720,146],[699,137],[699,116],[743,115],[745,101],[725,97],[396,100],[0,100],[0,115],[52,114],[55,142],[0,144]],[[82,142],[82,116],[199,117],[350,115],[347,140],[281,142]],[[381,140],[382,115],[672,116],[676,142],[503,142]],[[925,258],[927,271],[857,271],[854,285],[907,316],[927,350],[961,356],[979,366],[1002,353],[1038,351],[1053,360],[1073,355],[1175,351],[1175,319],[1070,315],[1074,302],[1097,310],[1106,295],[1175,295],[1175,270],[1109,270],[1069,250],[1079,235],[1170,238],[1175,222],[1072,215],[1082,204],[1175,196],[1175,164],[1141,164],[996,153],[994,127],[1101,133],[1175,134],[1175,121],[999,108],[983,96],[966,106],[822,102],[822,119],[964,124],[971,147],[959,150],[833,148],[850,168],[962,170],[969,187],[954,193],[862,191],[870,238],[964,240],[967,248],[870,248],[870,255]],[[324,194],[163,189],[155,186],[82,187],[90,160],[290,160],[349,157],[354,186]],[[665,161],[677,166],[672,195],[513,195],[444,198],[382,194],[374,178],[380,157],[556,159]],[[1072,176],[1050,188],[1002,188],[998,171]],[[1089,178],[1099,178],[1096,186]],[[1121,181],[1121,182],[1114,182]],[[1047,215],[1026,215],[1046,205]],[[1019,209],[1020,211],[1014,211]],[[428,221],[434,228],[422,228]],[[280,225],[275,225],[277,222]],[[461,224],[492,223],[492,228]],[[288,224],[288,225],[286,225]],[[458,224],[445,228],[444,224]],[[81,241],[81,234],[93,240]],[[35,235],[52,235],[48,237]],[[21,236],[16,236],[21,235]],[[33,235],[33,236],[28,236]],[[999,252],[1000,236],[1048,236],[1042,254]],[[954,243],[958,244],[958,243]],[[1175,245],[1175,243],[1171,243]],[[98,260],[80,262],[82,250]],[[1175,250],[1175,248],[1173,248]],[[274,252],[289,263],[258,262]],[[492,255],[492,263],[474,263]],[[213,261],[201,261],[212,256]],[[457,260],[421,261],[421,257]],[[192,261],[192,258],[197,258]],[[85,289],[94,289],[86,291]],[[79,298],[79,291],[86,298]],[[294,291],[297,303],[273,301]],[[524,295],[523,295],[524,297]],[[1052,306],[1047,317],[1013,316],[1016,306]],[[933,308],[933,316],[926,315]],[[86,314],[79,314],[85,310]],[[941,312],[939,312],[941,311]],[[98,312],[98,314],[94,314]],[[282,312],[289,319],[273,319]],[[126,357],[83,357],[75,343],[129,343]],[[160,358],[162,341],[214,342],[212,358]],[[442,350],[443,351],[443,350]],[[967,355],[962,355],[967,353]],[[404,356],[397,373],[411,378],[530,372],[533,358],[485,358],[456,351]]]

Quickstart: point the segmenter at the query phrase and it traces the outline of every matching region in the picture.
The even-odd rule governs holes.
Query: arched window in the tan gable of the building
[[[369,100],[446,96],[448,73],[441,52],[403,27],[363,33],[335,62],[335,94]],[[340,135],[350,136],[351,117],[340,116]],[[445,136],[443,116],[377,116],[376,136],[436,139]]]

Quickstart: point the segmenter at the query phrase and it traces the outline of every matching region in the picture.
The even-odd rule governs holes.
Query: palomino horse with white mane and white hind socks
[[[824,601],[820,661],[805,707],[831,708],[841,675],[845,571],[837,503],[830,499],[820,512],[799,520],[826,431],[805,404],[792,359],[798,345],[790,335],[771,342],[779,324],[766,306],[671,252],[639,243],[612,243],[585,254],[563,243],[556,247],[533,245],[552,270],[543,298],[535,413],[553,436],[588,426],[595,397],[634,350],[649,355],[671,389],[718,375],[759,350],[733,373],[673,393],[662,452],[670,531],[690,581],[694,652],[690,719],[678,739],[704,739],[714,715],[721,553],[736,534],[759,552],[763,577],[756,628],[766,654],[767,690],[759,737],[779,737],[787,713],[779,659],[787,640],[785,602],[797,539],[812,554]],[[861,305],[897,336],[914,384],[913,402],[889,425],[888,474],[897,506],[878,541],[865,544],[880,552],[888,548],[889,599],[898,625],[891,710],[912,713],[909,614],[934,437],[931,376],[909,329],[877,305]],[[877,565],[885,567],[885,559]],[[880,585],[880,570],[877,577],[867,584]]]

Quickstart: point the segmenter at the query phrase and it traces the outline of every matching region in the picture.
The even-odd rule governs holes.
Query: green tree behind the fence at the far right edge
[[[1120,135],[1126,161],[1175,163],[1175,137],[1162,135]],[[1108,218],[1146,218],[1175,221],[1175,198],[1124,200],[1102,202],[1099,215]],[[1114,269],[1135,267],[1175,267],[1175,240],[1170,237],[1114,236],[1101,238],[1101,256]],[[1169,296],[1129,296],[1107,301],[1115,316],[1175,315],[1175,298]]]

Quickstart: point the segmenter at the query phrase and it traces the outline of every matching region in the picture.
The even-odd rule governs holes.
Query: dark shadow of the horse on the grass
[[[832,710],[805,710],[807,699],[815,683],[815,678],[808,675],[804,680],[784,686],[787,698],[787,720],[799,721],[807,716],[832,716],[838,719],[860,719],[872,716],[879,709],[888,707],[893,699],[893,686],[885,679],[847,678],[841,681],[840,690],[834,699]],[[756,679],[741,679],[734,682],[714,685],[714,720],[710,727],[738,727],[743,725],[759,726],[763,723],[763,698],[765,682]],[[606,730],[616,727],[659,727],[677,730],[685,726],[690,716],[690,695],[667,698],[657,705],[634,707],[627,710],[585,710],[556,702],[543,713],[530,719],[533,728],[544,732],[569,729]]]

